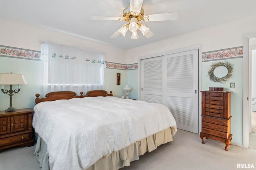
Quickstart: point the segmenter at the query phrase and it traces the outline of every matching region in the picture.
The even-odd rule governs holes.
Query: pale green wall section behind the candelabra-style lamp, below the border
[[[14,59],[0,57],[0,72],[3,73],[21,73],[28,84],[21,85],[21,90],[18,94],[12,96],[12,105],[16,109],[34,108],[35,94],[42,94],[43,84],[43,64],[42,61]],[[5,89],[10,89],[6,85]],[[17,85],[13,85],[16,89]],[[10,98],[7,94],[0,92],[0,110],[5,110],[10,105]]]

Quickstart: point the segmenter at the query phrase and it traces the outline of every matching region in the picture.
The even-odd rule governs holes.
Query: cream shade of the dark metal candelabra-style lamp
[[[0,73],[0,84],[27,84],[23,74]]]

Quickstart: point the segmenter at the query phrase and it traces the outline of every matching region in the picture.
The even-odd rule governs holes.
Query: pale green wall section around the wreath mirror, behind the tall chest
[[[216,61],[202,63],[202,90],[209,90],[209,87],[224,87],[231,94],[231,133],[232,142],[243,144],[243,58],[221,60],[234,64],[233,76],[225,83],[212,82],[207,76],[209,67]],[[230,88],[230,83],[235,83],[235,88]]]

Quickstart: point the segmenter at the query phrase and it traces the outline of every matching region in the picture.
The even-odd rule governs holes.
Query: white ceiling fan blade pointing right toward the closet
[[[178,12],[170,12],[165,14],[152,14],[143,16],[144,21],[170,21],[178,20],[180,14]]]

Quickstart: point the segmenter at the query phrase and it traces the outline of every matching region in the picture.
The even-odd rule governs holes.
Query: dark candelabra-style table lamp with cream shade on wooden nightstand
[[[0,89],[4,94],[8,94],[10,96],[10,107],[5,111],[16,111],[14,107],[12,107],[12,96],[18,92],[20,92],[20,84],[27,84],[24,79],[23,74],[12,74],[12,73],[0,73]],[[10,85],[10,90],[5,90],[4,85]],[[18,85],[18,90],[12,90],[12,85]]]

